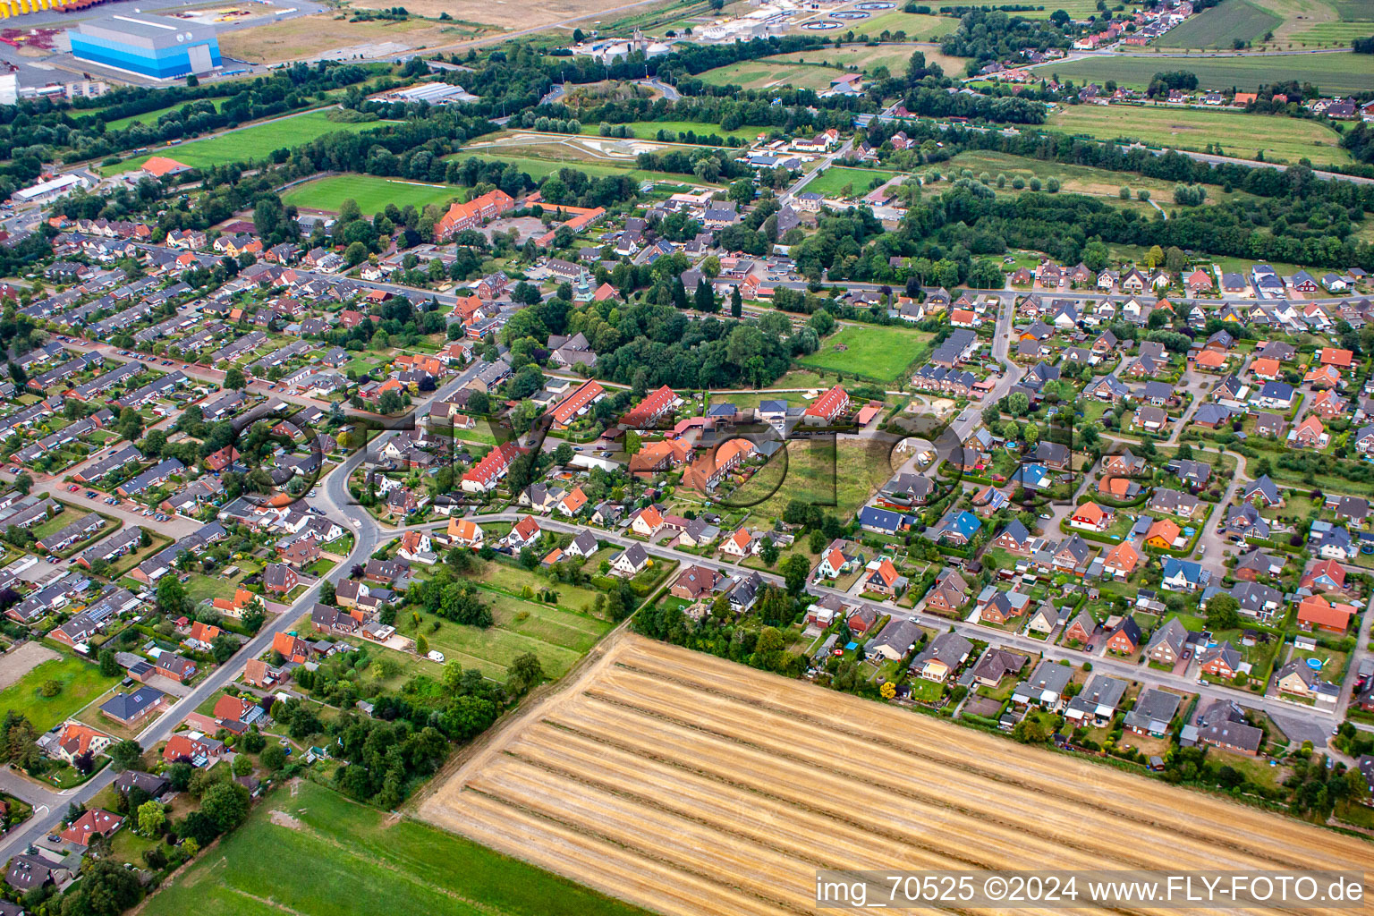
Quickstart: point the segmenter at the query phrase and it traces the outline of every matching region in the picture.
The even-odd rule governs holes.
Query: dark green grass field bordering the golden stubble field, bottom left
[[[649,916],[462,836],[350,802],[309,780],[276,790],[238,831],[164,884],[142,912]]]

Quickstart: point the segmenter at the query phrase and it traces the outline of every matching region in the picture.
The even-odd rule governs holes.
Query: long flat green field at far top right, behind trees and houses
[[[1374,23],[1370,23],[1374,34]],[[1374,91],[1374,55],[1362,54],[1294,54],[1281,58],[1200,58],[1197,60],[1161,60],[1149,55],[1117,54],[1057,63],[1052,70],[1061,80],[1106,82],[1116,80],[1125,87],[1145,88],[1161,70],[1178,69],[1195,73],[1204,89],[1254,89],[1272,82],[1275,69],[1283,77],[1311,82],[1323,92]],[[1046,69],[1048,71],[1050,69]]]

